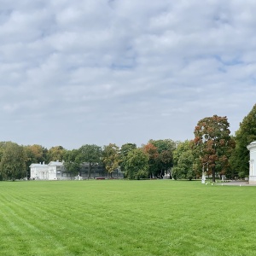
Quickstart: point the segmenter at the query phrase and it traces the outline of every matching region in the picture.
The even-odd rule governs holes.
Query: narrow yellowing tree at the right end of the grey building
[[[119,147],[116,144],[109,143],[103,147],[102,162],[112,177],[113,171],[119,168]]]

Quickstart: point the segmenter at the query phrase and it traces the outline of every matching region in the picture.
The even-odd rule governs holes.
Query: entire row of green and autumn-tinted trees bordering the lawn
[[[194,139],[184,142],[172,139],[149,140],[137,147],[125,143],[118,147],[109,143],[103,147],[84,144],[67,150],[62,146],[44,148],[41,145],[19,145],[0,142],[0,179],[15,180],[29,177],[32,163],[64,160],[66,172],[79,173],[82,163],[102,165],[112,177],[114,170],[124,172],[129,179],[172,177],[201,178],[202,171],[215,177],[246,177],[249,172],[247,145],[256,140],[256,104],[241,121],[238,131],[230,136],[227,117],[213,115],[198,121]],[[205,168],[206,167],[206,168]]]

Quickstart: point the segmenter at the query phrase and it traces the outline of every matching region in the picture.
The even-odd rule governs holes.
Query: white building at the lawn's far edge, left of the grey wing
[[[30,178],[40,180],[70,179],[65,172],[64,162],[50,161],[48,165],[32,164],[30,166]]]

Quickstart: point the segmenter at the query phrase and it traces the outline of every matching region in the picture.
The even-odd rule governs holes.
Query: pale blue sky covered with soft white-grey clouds
[[[254,0],[0,0],[1,141],[193,138],[256,102]]]

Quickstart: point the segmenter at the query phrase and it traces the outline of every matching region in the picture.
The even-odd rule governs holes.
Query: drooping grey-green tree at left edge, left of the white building
[[[15,180],[26,177],[26,152],[16,143],[7,143],[0,163],[3,179]]]

